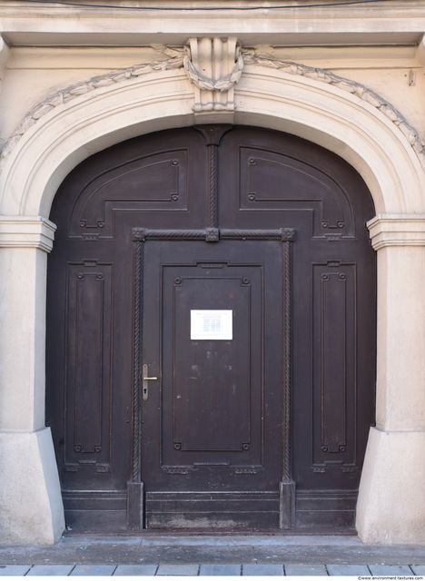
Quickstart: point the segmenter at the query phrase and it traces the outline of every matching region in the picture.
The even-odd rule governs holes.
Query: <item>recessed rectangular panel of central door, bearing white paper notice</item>
[[[173,425],[170,461],[187,457],[181,451],[209,461],[214,452],[251,448],[251,431],[258,432],[251,411],[262,402],[262,279],[254,270],[225,262],[163,267],[163,383],[172,385],[173,395],[163,423]],[[166,329],[170,323],[173,333]],[[230,339],[215,339],[220,331]]]

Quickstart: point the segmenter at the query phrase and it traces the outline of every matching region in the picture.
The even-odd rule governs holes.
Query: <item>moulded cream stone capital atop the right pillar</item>
[[[376,251],[385,246],[425,246],[425,214],[378,214],[367,227]]]

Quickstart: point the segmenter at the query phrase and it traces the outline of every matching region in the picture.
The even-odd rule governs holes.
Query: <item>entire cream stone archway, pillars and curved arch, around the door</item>
[[[377,427],[366,454],[357,527],[369,542],[425,542],[420,492],[425,481],[425,308],[418,276],[424,261],[425,180],[420,157],[406,132],[376,106],[308,76],[248,65],[235,101],[235,123],[319,143],[350,162],[371,191],[378,214],[370,223],[371,236],[379,250]],[[2,471],[11,475],[2,502],[5,542],[52,543],[63,527],[54,453],[44,428],[45,251],[53,239],[47,217],[54,193],[91,153],[137,134],[192,125],[192,103],[191,85],[181,70],[149,69],[59,99],[6,150],[0,182],[0,266],[7,304],[1,313],[1,445]],[[406,284],[410,300],[400,300]],[[24,316],[25,323],[16,326]],[[19,376],[16,360],[22,361]],[[18,448],[23,453],[16,463]],[[409,453],[401,453],[406,449]],[[29,470],[38,474],[36,482],[29,482]],[[22,514],[22,499],[16,498],[16,483],[23,497],[37,497],[31,524]],[[395,496],[402,502],[388,516]]]

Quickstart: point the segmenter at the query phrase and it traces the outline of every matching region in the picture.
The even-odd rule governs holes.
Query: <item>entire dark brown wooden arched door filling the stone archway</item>
[[[353,526],[373,215],[341,158],[252,127],[145,135],[66,178],[47,425],[71,527]]]

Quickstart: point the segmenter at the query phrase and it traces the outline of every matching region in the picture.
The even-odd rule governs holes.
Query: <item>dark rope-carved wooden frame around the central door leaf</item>
[[[215,220],[215,218],[214,218]],[[144,489],[142,471],[143,405],[143,263],[144,242],[148,240],[200,241],[215,244],[219,241],[280,241],[282,242],[283,269],[283,351],[282,351],[282,480],[279,484],[279,528],[290,529],[295,524],[295,482],[292,478],[292,423],[291,423],[291,245],[295,240],[292,228],[279,230],[150,230],[133,228],[134,248],[134,321],[133,321],[133,467],[132,479],[127,483],[127,527],[142,530],[144,523]]]

